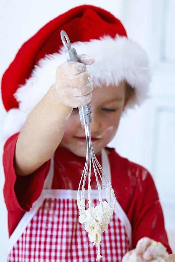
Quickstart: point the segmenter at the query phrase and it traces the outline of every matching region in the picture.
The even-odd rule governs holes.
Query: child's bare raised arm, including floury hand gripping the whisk
[[[14,166],[19,176],[33,173],[52,157],[72,108],[92,99],[93,84],[85,64],[94,63],[94,59],[82,55],[80,61],[66,62],[57,68],[56,84],[27,117],[15,148]]]

